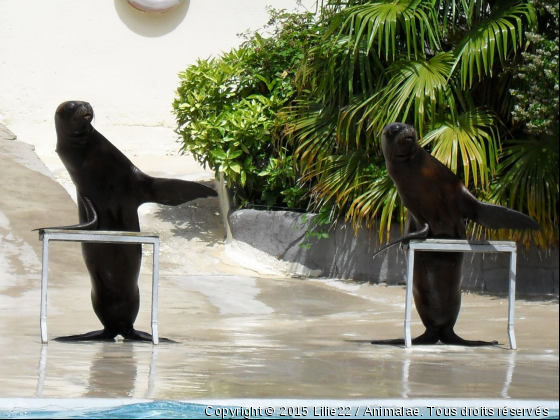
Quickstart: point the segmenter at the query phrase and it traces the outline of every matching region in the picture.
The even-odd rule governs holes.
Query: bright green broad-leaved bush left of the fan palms
[[[243,34],[238,49],[198,60],[179,75],[173,108],[181,151],[223,172],[240,205],[305,206],[277,116],[295,97],[312,28],[311,13],[271,10],[270,35]]]

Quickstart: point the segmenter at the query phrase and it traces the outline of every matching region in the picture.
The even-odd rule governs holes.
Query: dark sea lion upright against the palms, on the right
[[[414,127],[387,125],[381,146],[389,176],[409,214],[405,236],[389,246],[413,238],[466,239],[465,219],[491,229],[539,229],[538,223],[523,213],[477,200],[447,166],[420,147]],[[463,253],[416,252],[415,257],[414,303],[426,332],[412,343],[497,344],[464,340],[453,330],[461,308]]]

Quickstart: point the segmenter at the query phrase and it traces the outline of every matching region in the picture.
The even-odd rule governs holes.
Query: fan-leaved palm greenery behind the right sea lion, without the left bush
[[[551,0],[538,1],[552,4]],[[526,63],[530,61],[524,51],[534,38],[527,33],[540,31],[537,20],[540,23],[541,16],[534,3],[537,1],[323,1],[320,18],[325,30],[301,66],[297,101],[283,111],[285,144],[294,148],[300,179],[312,185],[312,207],[329,206],[352,220],[356,228],[362,222],[375,225],[380,240],[387,238],[391,220],[402,223],[405,210],[387,180],[380,134],[386,124],[400,121],[414,125],[422,144],[479,198],[510,205],[536,218],[544,227],[532,238],[536,243],[556,243],[558,185],[542,172],[553,163],[544,165],[542,153],[523,160],[526,167],[541,162],[536,172],[521,170],[521,164],[514,162],[519,158],[515,148],[521,147],[516,139],[525,138],[521,144],[534,147],[534,140],[511,123],[512,88],[521,92],[517,98],[528,94],[515,75],[523,54]],[[555,18],[557,25],[557,12]],[[557,38],[555,43],[556,62],[552,60],[548,66],[551,80],[552,74],[556,77],[556,91],[550,95],[549,86],[548,92],[554,97],[551,102],[557,104],[558,73],[552,71],[554,63],[557,66]],[[547,45],[547,51],[554,51],[552,44]],[[541,50],[544,47],[538,49],[542,58]],[[547,54],[549,59],[552,53]],[[529,65],[526,67],[528,72]],[[540,96],[541,108],[549,105],[545,96]],[[536,103],[535,95],[529,100]],[[518,108],[524,107],[518,101]],[[557,105],[555,112],[557,115]],[[550,118],[548,112],[526,126]],[[508,149],[509,145],[514,148]],[[546,181],[536,185],[524,179],[518,185],[514,169],[532,180],[545,175]],[[538,191],[544,197],[521,193],[523,188],[533,188],[533,193]],[[540,204],[528,204],[529,200]],[[524,237],[526,243],[529,236]]]

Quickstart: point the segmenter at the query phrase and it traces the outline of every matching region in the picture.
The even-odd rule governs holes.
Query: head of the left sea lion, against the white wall
[[[54,122],[59,135],[80,137],[92,129],[93,108],[87,102],[67,101],[56,109]]]

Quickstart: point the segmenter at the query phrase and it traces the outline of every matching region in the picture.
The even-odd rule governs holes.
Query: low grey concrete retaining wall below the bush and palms
[[[312,220],[311,216],[309,220]],[[375,259],[376,233],[361,229],[357,236],[348,223],[340,222],[328,239],[306,241],[309,221],[293,212],[239,210],[229,216],[232,256],[244,262],[261,262],[288,275],[335,277],[358,282],[404,284],[406,260],[398,246]],[[393,229],[400,236],[399,226]],[[526,252],[518,246],[517,291],[522,294],[558,295],[558,249]],[[509,256],[466,254],[463,288],[477,292],[508,290]]]

